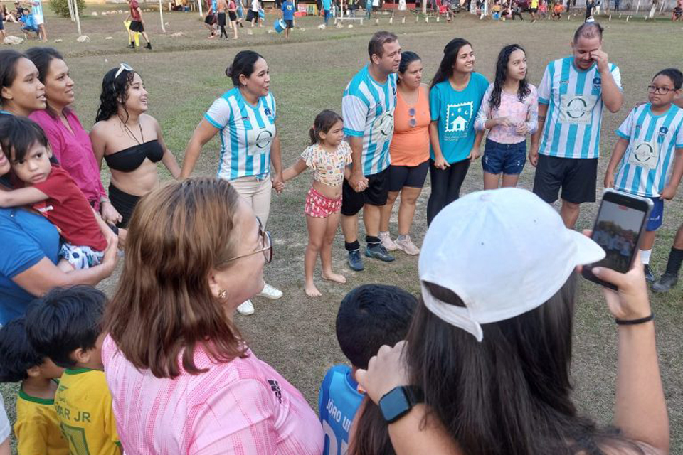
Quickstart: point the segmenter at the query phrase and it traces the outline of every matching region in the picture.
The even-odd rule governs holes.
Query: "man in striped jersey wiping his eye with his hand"
[[[623,104],[619,68],[608,63],[602,44],[599,23],[581,25],[573,56],[549,63],[538,89],[539,129],[529,147],[534,193],[554,203],[561,188],[560,214],[568,228],[581,203],[595,202],[603,105],[618,112]]]

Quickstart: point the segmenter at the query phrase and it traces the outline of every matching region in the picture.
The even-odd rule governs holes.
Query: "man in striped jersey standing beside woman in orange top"
[[[395,34],[375,33],[368,45],[370,63],[360,70],[342,98],[344,134],[351,146],[351,176],[344,180],[342,230],[349,267],[364,268],[358,242],[358,213],[363,209],[367,257],[393,261],[379,240],[380,208],[388,195],[389,144],[396,107],[396,72],[401,45]]]

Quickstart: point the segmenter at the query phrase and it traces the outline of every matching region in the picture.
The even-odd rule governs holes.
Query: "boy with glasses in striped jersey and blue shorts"
[[[647,86],[650,102],[632,109],[617,130],[619,140],[605,174],[605,187],[651,198],[655,208],[640,243],[645,279],[654,282],[650,255],[662,225],[664,200],[672,200],[683,177],[683,109],[672,102],[680,93],[683,74],[661,70]],[[617,169],[617,175],[614,175]]]

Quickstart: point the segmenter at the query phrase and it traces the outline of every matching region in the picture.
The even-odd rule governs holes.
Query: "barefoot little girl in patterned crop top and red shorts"
[[[351,164],[351,147],[342,140],[343,127],[342,117],[336,112],[320,112],[309,131],[311,145],[304,150],[299,161],[282,172],[282,180],[287,181],[306,168],[313,171],[313,185],[306,195],[304,208],[308,226],[304,289],[309,297],[322,295],[313,282],[318,255],[322,262],[322,278],[346,283],[344,275],[332,272],[332,240],[337,233],[342,210],[342,183],[345,177],[349,177],[348,165]]]

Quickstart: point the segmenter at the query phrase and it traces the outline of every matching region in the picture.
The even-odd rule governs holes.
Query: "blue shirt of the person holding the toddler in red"
[[[59,233],[43,215],[23,208],[0,208],[0,326],[16,319],[34,299],[12,278],[47,257],[57,263]],[[9,251],[11,250],[11,254]]]

